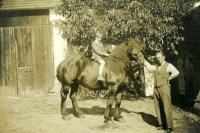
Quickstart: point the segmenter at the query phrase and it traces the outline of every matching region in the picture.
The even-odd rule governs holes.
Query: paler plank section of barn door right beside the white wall
[[[32,29],[32,31],[35,33],[35,37],[37,38],[34,47],[34,63],[36,66],[34,77],[37,83],[37,92],[44,92],[53,87],[55,80],[52,26],[38,26],[37,28]],[[43,33],[41,31],[43,31]]]

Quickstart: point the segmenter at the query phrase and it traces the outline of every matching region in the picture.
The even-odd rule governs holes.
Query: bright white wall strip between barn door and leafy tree
[[[49,10],[49,20],[53,23],[54,20],[63,19],[61,16],[55,14],[54,9]],[[56,68],[62,62],[67,53],[67,40],[64,40],[56,27],[53,27],[53,46],[54,46],[54,68],[56,76]],[[51,92],[60,92],[61,84],[55,77],[55,86]]]

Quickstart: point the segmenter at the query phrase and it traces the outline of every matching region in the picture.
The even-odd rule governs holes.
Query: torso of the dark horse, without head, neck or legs
[[[124,63],[111,58],[104,58],[106,65],[103,77],[107,84],[120,84],[125,80]],[[113,61],[114,60],[114,61]],[[82,55],[70,56],[57,67],[57,79],[62,84],[70,85],[74,81],[89,89],[100,88],[97,82],[99,63]]]

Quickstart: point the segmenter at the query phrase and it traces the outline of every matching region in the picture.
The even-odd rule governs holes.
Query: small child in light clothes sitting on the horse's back
[[[92,43],[92,59],[100,63],[98,80],[105,81],[102,76],[103,68],[105,66],[105,61],[102,59],[102,56],[109,56],[110,54],[105,51],[101,39],[102,33],[97,31],[95,41]]]

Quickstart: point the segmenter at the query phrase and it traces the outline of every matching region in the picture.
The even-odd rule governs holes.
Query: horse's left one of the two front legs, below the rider
[[[113,89],[108,89],[108,101],[107,101],[106,110],[104,112],[104,118],[105,118],[106,123],[112,120],[111,108],[113,105],[114,95],[115,95],[115,91]]]

